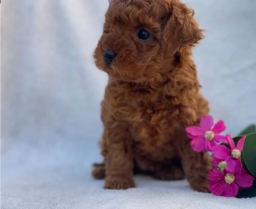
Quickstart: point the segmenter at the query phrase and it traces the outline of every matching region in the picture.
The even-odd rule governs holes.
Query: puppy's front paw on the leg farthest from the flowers
[[[129,189],[135,187],[133,179],[106,178],[104,189]]]

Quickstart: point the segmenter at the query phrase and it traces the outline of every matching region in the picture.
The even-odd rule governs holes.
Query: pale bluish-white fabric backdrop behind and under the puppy
[[[256,1],[185,0],[206,38],[194,50],[212,115],[237,134],[256,123]],[[107,0],[2,0],[1,205],[36,208],[256,208],[186,181],[136,177],[109,191],[90,176],[101,160],[99,104],[106,74],[92,53]]]

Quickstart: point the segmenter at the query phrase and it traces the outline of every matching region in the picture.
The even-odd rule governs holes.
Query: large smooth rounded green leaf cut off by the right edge
[[[248,170],[256,177],[256,133],[245,137],[242,152]]]

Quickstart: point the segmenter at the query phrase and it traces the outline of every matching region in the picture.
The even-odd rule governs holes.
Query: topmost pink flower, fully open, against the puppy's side
[[[200,119],[200,127],[188,126],[186,128],[187,136],[192,138],[190,145],[195,152],[202,152],[205,149],[212,151],[216,143],[227,143],[227,138],[220,135],[226,129],[224,121],[219,120],[213,128],[212,126],[212,116],[203,116]]]

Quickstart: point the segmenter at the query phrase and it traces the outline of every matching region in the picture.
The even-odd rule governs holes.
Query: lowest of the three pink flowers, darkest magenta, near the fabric
[[[253,176],[243,170],[233,174],[224,170],[211,169],[208,174],[209,190],[216,196],[235,197],[238,189],[250,188],[253,185]]]

